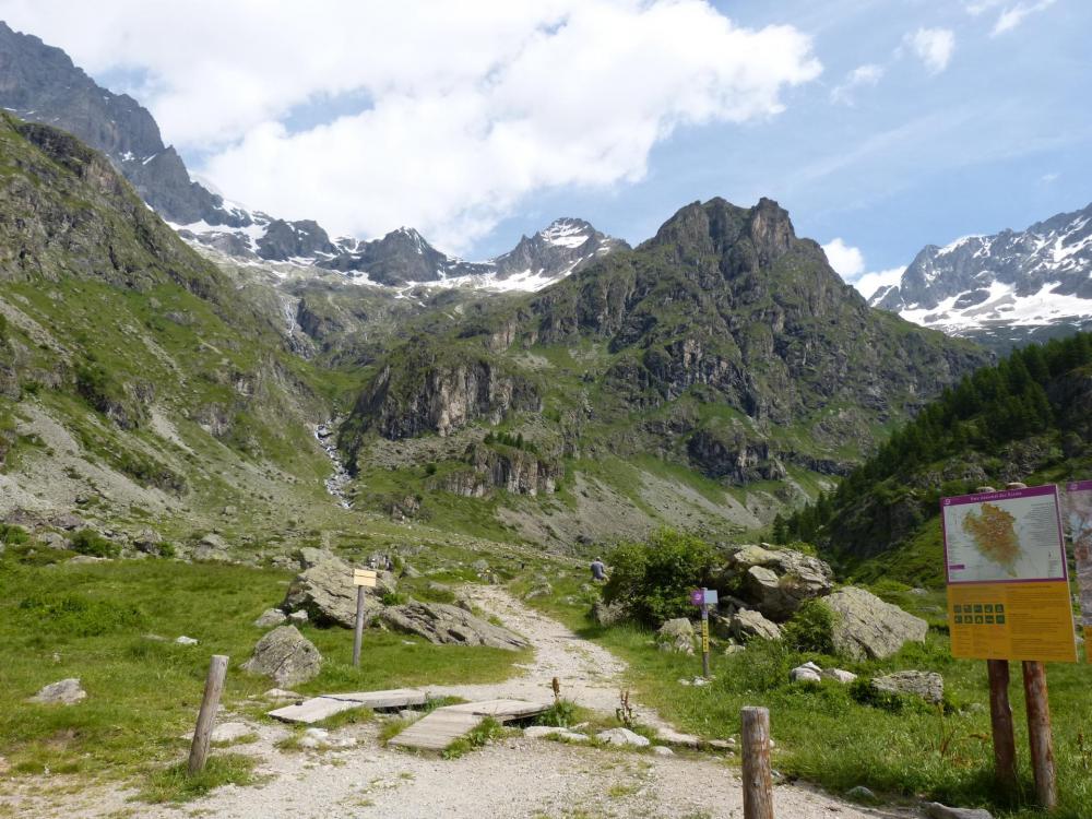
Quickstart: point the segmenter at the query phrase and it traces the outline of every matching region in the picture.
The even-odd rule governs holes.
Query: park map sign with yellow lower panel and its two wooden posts
[[[986,660],[998,781],[1016,784],[1008,661],[1023,661],[1040,803],[1057,804],[1044,661],[1077,661],[1056,486],[1010,484],[940,502],[952,654]]]

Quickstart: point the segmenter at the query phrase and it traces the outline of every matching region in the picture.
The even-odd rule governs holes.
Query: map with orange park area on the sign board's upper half
[[[1066,579],[1054,486],[945,498],[943,527],[949,583]]]

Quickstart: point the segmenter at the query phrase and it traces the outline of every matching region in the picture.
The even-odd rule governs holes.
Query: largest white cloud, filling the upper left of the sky
[[[165,139],[233,199],[455,251],[534,192],[641,179],[680,127],[775,116],[821,71],[797,29],[705,0],[0,0],[0,17],[93,73],[145,71]],[[346,94],[371,106],[286,128]]]

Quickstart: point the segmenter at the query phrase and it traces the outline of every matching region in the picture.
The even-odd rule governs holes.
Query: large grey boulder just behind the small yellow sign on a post
[[[286,612],[302,609],[307,612],[311,622],[320,626],[344,626],[353,628],[356,625],[356,586],[353,585],[353,567],[330,553],[319,549],[301,549],[317,553],[308,557],[319,557],[318,562],[304,569],[288,585],[281,608]],[[301,557],[306,561],[306,558]],[[365,589],[364,621],[371,624],[383,608],[380,597],[387,592],[393,592],[396,586],[394,575],[389,571],[380,571],[375,589]]]

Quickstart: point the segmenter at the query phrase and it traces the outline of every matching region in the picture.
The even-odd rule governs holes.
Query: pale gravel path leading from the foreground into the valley
[[[437,686],[437,695],[467,699],[517,697],[548,701],[549,682],[559,677],[562,695],[592,709],[612,712],[625,665],[604,649],[577,638],[560,624],[531,610],[506,591],[476,587],[478,605],[532,640],[533,663],[512,680],[495,685]],[[664,724],[640,709],[644,724]],[[226,719],[226,717],[225,717]],[[280,725],[256,726],[259,739],[233,750],[260,758],[268,778],[257,787],[224,787],[177,807],[129,802],[131,793],[83,790],[46,795],[24,786],[14,796],[15,815],[37,817],[140,817],[178,819],[741,819],[738,769],[717,757],[679,753],[656,757],[626,750],[583,748],[522,736],[505,738],[455,760],[382,748],[375,724],[332,733],[353,737],[347,750],[285,752],[275,743],[288,735]],[[27,783],[29,785],[31,783]],[[41,785],[41,782],[37,782]],[[29,791],[35,792],[32,795]],[[0,798],[0,816],[7,799]],[[850,806],[799,785],[774,792],[778,819],[865,819],[880,814]],[[29,812],[22,812],[29,811]]]

